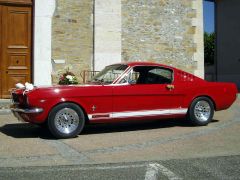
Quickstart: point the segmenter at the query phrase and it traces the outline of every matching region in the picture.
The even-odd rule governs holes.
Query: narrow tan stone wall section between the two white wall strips
[[[80,72],[91,70],[93,56],[92,0],[56,0],[52,23],[53,83],[64,67],[80,78]],[[59,61],[60,60],[60,61]]]

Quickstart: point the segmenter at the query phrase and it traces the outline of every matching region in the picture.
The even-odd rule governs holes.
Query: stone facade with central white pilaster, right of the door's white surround
[[[204,77],[202,0],[56,0],[53,83],[122,61],[153,61]]]

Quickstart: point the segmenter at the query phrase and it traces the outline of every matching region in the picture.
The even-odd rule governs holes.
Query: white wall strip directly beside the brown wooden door
[[[52,16],[55,0],[35,0],[34,85],[51,85]]]

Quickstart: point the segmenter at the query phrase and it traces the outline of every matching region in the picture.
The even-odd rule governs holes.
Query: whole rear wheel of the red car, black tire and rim
[[[193,125],[205,126],[211,122],[214,115],[213,102],[207,97],[193,100],[188,109],[188,119]]]

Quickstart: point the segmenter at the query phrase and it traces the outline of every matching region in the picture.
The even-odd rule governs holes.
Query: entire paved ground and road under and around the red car
[[[0,179],[240,179],[239,137],[240,98],[205,127],[94,125],[67,140],[1,113]]]

